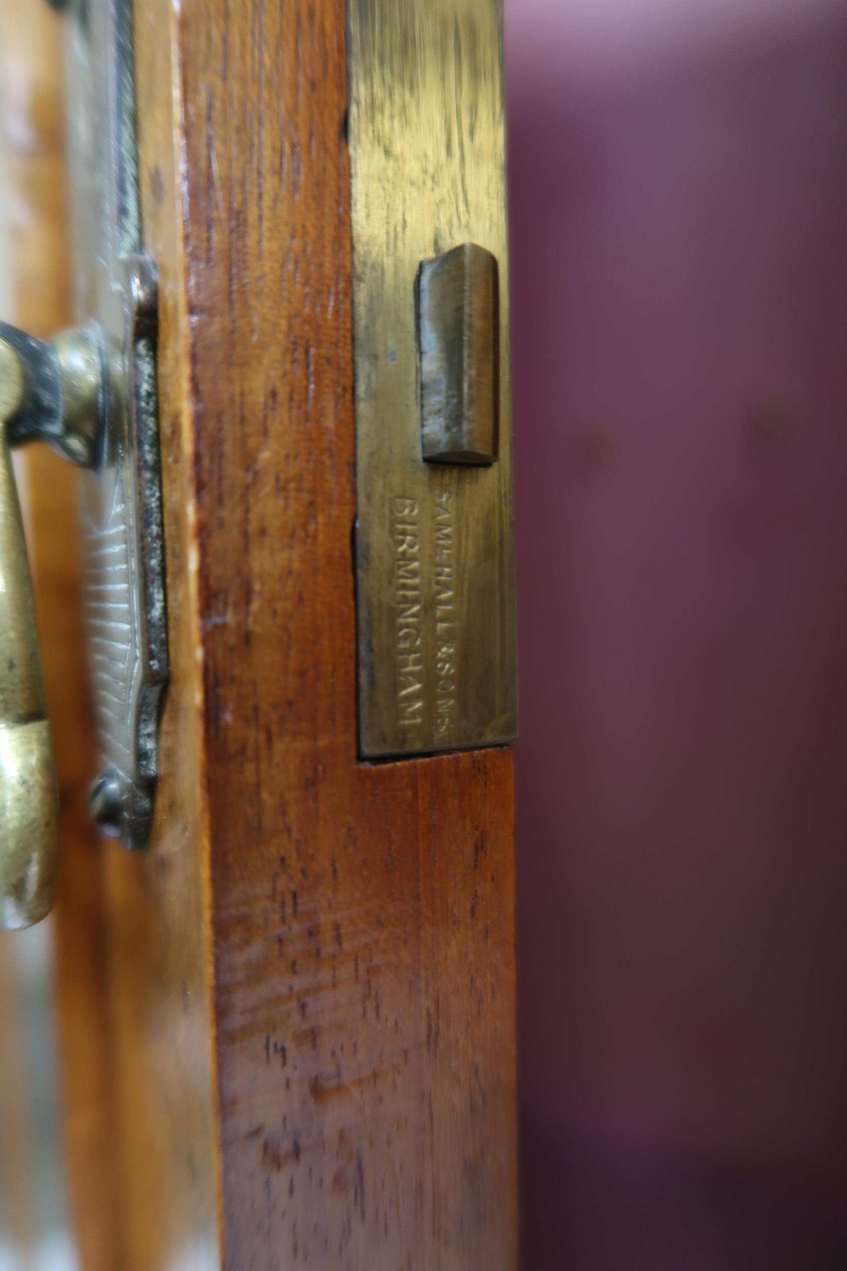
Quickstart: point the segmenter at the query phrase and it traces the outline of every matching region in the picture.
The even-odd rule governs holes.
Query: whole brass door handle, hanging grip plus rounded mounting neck
[[[86,332],[51,344],[0,324],[0,929],[30,927],[58,874],[58,789],[11,446],[37,437],[90,464],[99,351]]]

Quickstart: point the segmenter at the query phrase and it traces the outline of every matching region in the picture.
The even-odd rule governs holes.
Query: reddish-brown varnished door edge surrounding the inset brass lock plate
[[[345,8],[180,39],[225,1265],[500,1271],[512,760],[356,760]]]

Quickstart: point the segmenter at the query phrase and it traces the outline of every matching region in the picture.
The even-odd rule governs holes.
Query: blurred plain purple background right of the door
[[[507,0],[526,1271],[847,1267],[847,5]]]

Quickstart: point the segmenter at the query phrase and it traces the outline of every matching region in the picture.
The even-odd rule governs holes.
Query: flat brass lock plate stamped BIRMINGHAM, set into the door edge
[[[517,731],[502,19],[502,0],[349,0],[363,758]],[[475,281],[489,254],[499,295],[490,264]],[[437,404],[436,329],[461,403]]]

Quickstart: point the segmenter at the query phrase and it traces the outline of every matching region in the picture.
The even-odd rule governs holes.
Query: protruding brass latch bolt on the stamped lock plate
[[[424,261],[418,282],[423,456],[442,464],[497,459],[498,268],[464,243]]]

